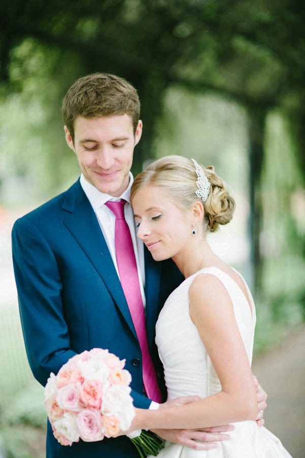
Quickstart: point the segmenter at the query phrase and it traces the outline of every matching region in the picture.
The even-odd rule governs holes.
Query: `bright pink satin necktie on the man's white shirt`
[[[158,403],[162,402],[158,387],[155,367],[151,360],[145,326],[144,308],[141,297],[137,263],[128,224],[125,220],[124,205],[126,201],[106,202],[106,206],[115,215],[115,253],[120,282],[128,303],[131,318],[138,336],[142,353],[142,370],[144,389],[149,397]]]

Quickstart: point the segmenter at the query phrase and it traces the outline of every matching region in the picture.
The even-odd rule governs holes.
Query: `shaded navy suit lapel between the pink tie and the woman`
[[[153,343],[155,338],[155,327],[159,313],[159,292],[161,262],[154,261],[153,256],[144,246],[145,261],[145,297],[146,297],[146,329],[148,345]]]

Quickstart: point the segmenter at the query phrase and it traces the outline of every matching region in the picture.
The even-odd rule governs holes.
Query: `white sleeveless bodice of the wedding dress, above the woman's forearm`
[[[239,285],[227,273],[216,267],[199,270],[173,291],[157,322],[156,343],[164,366],[169,400],[190,394],[206,397],[221,390],[220,381],[189,314],[189,288],[194,278],[201,273],[217,276],[228,291],[251,364],[255,307],[248,287],[252,309]]]

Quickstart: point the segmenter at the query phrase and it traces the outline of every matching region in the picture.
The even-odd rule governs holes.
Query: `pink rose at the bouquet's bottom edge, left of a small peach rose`
[[[104,428],[101,414],[94,409],[83,409],[76,417],[80,438],[85,442],[96,442],[104,439]]]

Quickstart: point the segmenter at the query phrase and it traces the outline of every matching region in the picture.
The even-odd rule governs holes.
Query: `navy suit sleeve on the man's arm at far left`
[[[25,349],[34,377],[45,385],[76,354],[64,319],[62,282],[54,253],[31,219],[15,222],[12,250]]]

